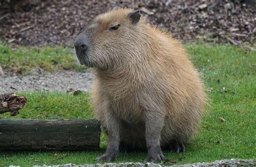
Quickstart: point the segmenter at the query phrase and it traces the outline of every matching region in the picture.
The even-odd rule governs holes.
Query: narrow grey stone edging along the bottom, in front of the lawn
[[[85,165],[75,165],[75,164],[64,164],[64,165],[43,165],[42,167],[161,167],[161,166],[168,166],[168,167],[196,167],[196,166],[256,166],[256,159],[224,159],[224,160],[217,160],[211,163],[194,163],[194,164],[184,164],[184,165],[164,165],[164,164],[154,164],[154,163],[106,163],[106,164],[85,164]],[[9,167],[19,167],[10,165]],[[41,167],[38,165],[33,165],[32,167]]]

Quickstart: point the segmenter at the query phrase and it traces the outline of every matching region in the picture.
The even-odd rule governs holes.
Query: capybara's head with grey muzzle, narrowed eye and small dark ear
[[[93,19],[75,40],[80,64],[113,69],[139,50],[143,30],[139,10],[116,9]]]

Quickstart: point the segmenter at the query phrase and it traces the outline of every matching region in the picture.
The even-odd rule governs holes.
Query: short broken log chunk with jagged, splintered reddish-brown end
[[[11,116],[15,116],[25,103],[25,96],[18,96],[15,93],[0,94],[0,114],[10,112]]]

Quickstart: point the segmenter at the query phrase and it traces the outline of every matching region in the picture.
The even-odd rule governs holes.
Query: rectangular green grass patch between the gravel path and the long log
[[[76,96],[58,92],[28,92],[17,93],[25,95],[27,102],[19,114],[0,115],[10,119],[90,119],[92,108],[90,94],[82,93]]]

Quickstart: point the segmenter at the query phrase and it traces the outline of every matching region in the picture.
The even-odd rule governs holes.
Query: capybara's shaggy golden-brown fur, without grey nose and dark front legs
[[[118,122],[122,145],[146,148],[145,133],[151,131],[145,129],[147,122],[160,131],[162,148],[173,141],[186,143],[203,113],[203,82],[170,34],[150,26],[145,18],[131,24],[127,18],[131,11],[99,15],[87,29],[91,40],[87,55],[96,72],[95,116],[106,130]],[[117,23],[117,31],[107,31]]]

